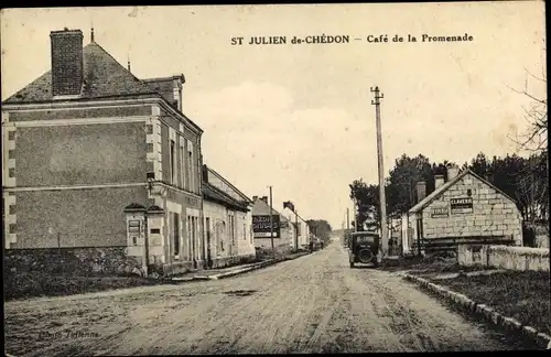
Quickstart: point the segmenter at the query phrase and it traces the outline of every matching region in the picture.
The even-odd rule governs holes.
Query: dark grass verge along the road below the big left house
[[[4,299],[65,296],[105,290],[166,284],[165,280],[139,277],[69,277],[40,271],[4,273]]]

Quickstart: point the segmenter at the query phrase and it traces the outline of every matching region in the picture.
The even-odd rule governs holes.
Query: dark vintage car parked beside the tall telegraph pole
[[[378,267],[379,234],[374,231],[354,231],[348,240],[348,260],[350,268],[355,263]]]

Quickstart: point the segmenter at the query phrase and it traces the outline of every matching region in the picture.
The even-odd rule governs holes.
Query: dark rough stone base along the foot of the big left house
[[[130,275],[141,262],[127,247],[6,249],[4,273],[41,271],[67,275]]]

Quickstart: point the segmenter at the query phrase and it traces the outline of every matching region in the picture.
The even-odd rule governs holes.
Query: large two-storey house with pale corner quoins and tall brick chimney
[[[51,71],[2,102],[6,248],[136,248],[145,236],[149,263],[201,264],[203,130],[183,113],[184,77],[141,80],[93,33],[84,47],[79,30],[50,36]],[[129,219],[130,204],[158,207]]]

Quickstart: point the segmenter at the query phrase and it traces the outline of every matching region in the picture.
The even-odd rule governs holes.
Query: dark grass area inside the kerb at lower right
[[[506,271],[439,280],[437,284],[551,335],[549,272]]]

